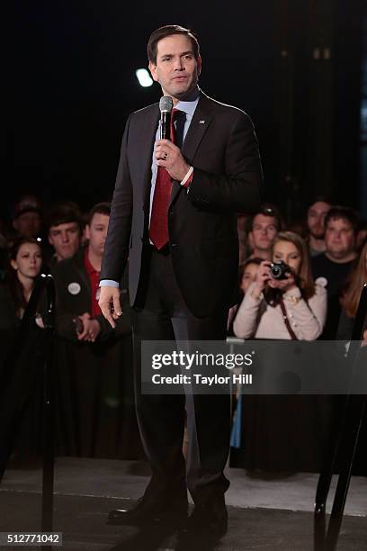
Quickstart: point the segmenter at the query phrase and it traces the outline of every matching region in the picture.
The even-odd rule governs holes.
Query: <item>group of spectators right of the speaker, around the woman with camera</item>
[[[320,197],[303,227],[294,227],[272,204],[241,225],[243,299],[229,326],[241,339],[350,339],[367,282],[366,223],[353,209]]]

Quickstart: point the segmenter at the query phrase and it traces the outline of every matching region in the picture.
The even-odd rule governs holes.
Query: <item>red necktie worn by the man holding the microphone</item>
[[[180,112],[172,110],[171,115],[171,141],[175,143],[175,117]],[[165,167],[158,167],[156,187],[154,190],[152,212],[150,214],[149,238],[156,248],[165,247],[168,243],[168,205],[172,190],[172,178]]]

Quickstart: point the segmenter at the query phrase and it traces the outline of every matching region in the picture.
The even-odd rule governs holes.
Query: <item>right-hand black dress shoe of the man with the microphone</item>
[[[228,513],[223,500],[195,504],[191,517],[180,530],[182,537],[219,538],[228,530]]]

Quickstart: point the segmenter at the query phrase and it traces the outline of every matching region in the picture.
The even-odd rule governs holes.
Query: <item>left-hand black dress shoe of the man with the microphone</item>
[[[187,501],[142,497],[130,510],[114,509],[108,514],[109,524],[139,526],[150,523],[166,523],[182,526],[187,520]]]

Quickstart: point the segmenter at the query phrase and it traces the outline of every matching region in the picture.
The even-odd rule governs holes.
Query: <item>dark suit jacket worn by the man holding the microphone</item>
[[[122,138],[101,279],[120,281],[129,257],[130,300],[136,299],[142,249],[148,242],[152,150],[158,104],[132,113]],[[193,167],[188,189],[173,183],[168,212],[177,283],[197,317],[236,302],[237,216],[260,203],[262,169],[253,124],[235,107],[201,93],[183,143]]]

